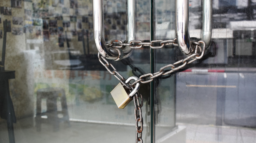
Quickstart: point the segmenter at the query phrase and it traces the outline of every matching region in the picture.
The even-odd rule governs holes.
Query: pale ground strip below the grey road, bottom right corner
[[[255,129],[231,126],[186,126],[186,143],[254,143]]]

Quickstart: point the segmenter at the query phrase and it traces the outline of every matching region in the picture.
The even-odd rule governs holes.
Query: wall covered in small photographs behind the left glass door
[[[121,3],[108,1],[104,4],[107,41],[117,37],[125,39],[126,8]],[[26,43],[26,50],[39,48],[41,56],[49,60],[45,64],[47,69],[60,68],[52,61],[59,58],[53,57],[57,51],[66,52],[66,56],[69,49],[78,55],[97,53],[93,39],[92,0],[5,0],[0,13],[0,22],[8,20],[8,32],[18,39],[23,37],[20,42]],[[0,38],[2,35],[3,24]]]

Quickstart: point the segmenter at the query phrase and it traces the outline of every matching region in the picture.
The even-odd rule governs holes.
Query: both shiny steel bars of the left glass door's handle
[[[135,2],[129,0],[128,3],[128,40],[135,39]],[[94,41],[99,54],[107,59],[120,60],[131,55],[133,49],[129,46],[121,50],[108,47],[104,38],[104,23],[103,23],[103,0],[93,0],[93,26],[94,26]],[[120,57],[121,52],[121,57]]]

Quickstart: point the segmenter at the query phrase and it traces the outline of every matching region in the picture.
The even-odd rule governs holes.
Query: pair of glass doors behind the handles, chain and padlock
[[[203,1],[181,5],[187,6],[194,41],[202,39]],[[164,72],[170,72],[170,64],[187,57],[174,40],[176,1],[136,1],[132,29],[134,1],[103,0],[98,13],[112,52],[120,41],[143,42],[134,42],[143,46],[127,58],[102,59],[104,66],[93,2],[100,1],[1,0],[0,142],[136,141],[134,102],[117,108],[110,92],[119,81],[112,74],[140,77],[166,65]],[[203,58],[140,84],[143,142],[255,142],[256,1],[211,2],[211,44]],[[161,47],[162,40],[174,41]]]

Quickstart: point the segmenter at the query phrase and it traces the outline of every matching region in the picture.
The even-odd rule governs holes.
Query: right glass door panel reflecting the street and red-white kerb
[[[155,142],[255,142],[256,1],[212,2],[209,51],[155,82]],[[190,37],[198,39],[201,3],[189,0]],[[156,39],[174,39],[175,1],[158,1],[155,10]],[[184,57],[178,47],[155,50],[155,71]]]

